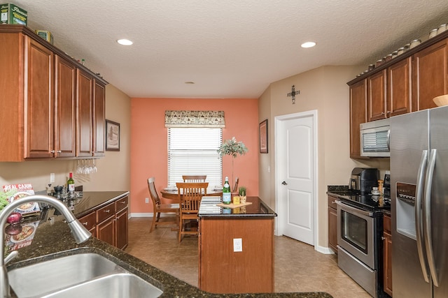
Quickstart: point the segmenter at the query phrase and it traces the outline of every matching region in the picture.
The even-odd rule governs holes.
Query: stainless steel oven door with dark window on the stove
[[[374,235],[377,218],[370,211],[337,204],[337,244],[372,269],[377,269],[374,257]]]

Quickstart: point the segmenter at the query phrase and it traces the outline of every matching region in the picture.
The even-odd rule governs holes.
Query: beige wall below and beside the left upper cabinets
[[[106,151],[105,157],[97,159],[97,173],[75,174],[74,160],[0,163],[0,186],[29,182],[35,191],[43,191],[50,182],[50,173],[55,173],[55,186],[66,184],[69,172],[73,172],[75,185],[83,184],[85,191],[129,191],[130,98],[110,84],[106,87],[106,119],[120,123],[120,151]]]

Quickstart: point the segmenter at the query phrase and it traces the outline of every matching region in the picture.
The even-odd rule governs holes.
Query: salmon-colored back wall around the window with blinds
[[[236,137],[248,153],[235,159],[234,176],[248,195],[258,195],[258,99],[132,98],[131,99],[131,213],[147,216],[153,205],[148,177],[159,191],[168,183],[165,110],[223,110],[223,140]],[[232,157],[223,157],[223,177],[232,177]],[[150,198],[150,203],[145,203]],[[169,202],[166,200],[165,202]]]

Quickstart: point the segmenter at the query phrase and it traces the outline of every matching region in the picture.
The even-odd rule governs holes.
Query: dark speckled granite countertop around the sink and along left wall
[[[101,200],[104,202],[99,202],[99,205],[107,204],[116,198],[123,197],[127,195],[128,192],[85,192],[83,199],[90,198],[92,204],[94,200]],[[97,194],[97,195],[96,195]],[[96,198],[96,199],[95,199]],[[99,200],[99,198],[102,198]],[[90,203],[89,203],[90,204]],[[97,209],[96,207],[89,206],[85,202],[85,207],[80,207],[76,214],[83,214],[87,210]],[[84,211],[80,211],[85,209]],[[34,238],[29,246],[25,246],[19,249],[19,255],[13,261],[8,264],[8,269],[13,269],[17,267],[23,267],[26,265],[31,265],[36,262],[41,262],[43,260],[50,260],[52,258],[58,258],[64,255],[73,255],[75,253],[98,253],[99,255],[104,255],[115,261],[118,265],[130,271],[144,280],[152,283],[156,287],[163,291],[161,297],[302,297],[302,298],[330,298],[332,297],[325,292],[302,292],[302,293],[260,293],[260,294],[211,294],[208,292],[203,292],[198,288],[185,283],[184,281],[175,278],[172,275],[167,274],[165,271],[157,269],[146,262],[134,258],[132,255],[121,251],[120,249],[106,244],[99,239],[91,237],[83,244],[76,244],[73,237],[71,237],[71,232],[63,222],[62,216],[52,216],[51,210],[48,214],[43,216],[43,212],[38,216],[27,218],[27,221],[35,221],[38,223],[38,229]],[[81,215],[82,216],[82,215]],[[42,218],[43,217],[43,218]],[[49,221],[48,218],[55,218],[55,220]]]

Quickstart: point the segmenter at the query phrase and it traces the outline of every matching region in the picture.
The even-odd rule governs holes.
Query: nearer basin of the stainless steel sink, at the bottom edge
[[[134,274],[111,274],[71,288],[66,288],[45,298],[78,298],[88,293],[95,298],[159,297],[162,291]]]

